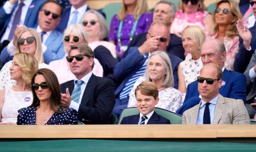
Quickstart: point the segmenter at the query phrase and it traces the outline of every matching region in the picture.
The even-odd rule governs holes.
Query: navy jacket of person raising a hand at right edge
[[[254,50],[256,49],[256,26],[251,27],[250,29],[252,38],[251,38],[251,50],[248,51],[245,49],[243,45],[243,40],[241,37],[239,37],[239,51],[236,55],[235,62],[234,62],[234,71],[237,71],[239,73],[244,73],[246,70],[246,67],[248,66],[251,56],[254,53]]]

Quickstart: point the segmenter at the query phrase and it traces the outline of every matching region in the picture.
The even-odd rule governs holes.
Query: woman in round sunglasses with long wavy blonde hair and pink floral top
[[[233,0],[221,0],[215,5],[214,24],[208,38],[217,38],[226,47],[225,68],[234,70],[233,64],[239,50],[239,36],[236,23],[242,18],[238,3]]]

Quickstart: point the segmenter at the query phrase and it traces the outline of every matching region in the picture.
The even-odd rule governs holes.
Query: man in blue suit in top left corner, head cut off
[[[0,8],[0,39],[1,43],[5,41],[5,45],[2,46],[2,49],[13,38],[14,33],[11,34],[12,36],[9,35],[10,32],[13,31],[11,30],[12,23],[14,22],[14,17],[19,8],[20,3],[23,3],[24,6],[22,6],[21,8],[20,21],[18,25],[35,27],[38,24],[38,12],[40,11],[40,8],[45,1],[46,0],[8,0],[5,2],[5,4]]]

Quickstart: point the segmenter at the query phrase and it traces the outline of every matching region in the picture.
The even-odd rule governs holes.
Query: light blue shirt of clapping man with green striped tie
[[[80,87],[81,87],[81,94],[80,94],[78,103],[76,103],[76,102],[74,102],[74,101],[72,100],[71,103],[70,103],[70,105],[69,105],[69,108],[73,108],[73,109],[76,109],[76,111],[78,111],[79,106],[80,106],[80,103],[81,103],[81,100],[82,100],[82,97],[83,97],[83,95],[84,95],[84,90],[85,90],[86,85],[87,85],[89,79],[91,78],[91,75],[92,75],[92,74],[93,74],[93,72],[90,71],[88,74],[86,74],[86,75],[81,79],[82,81],[84,81],[84,83],[82,83],[82,84],[80,85]],[[74,79],[74,85],[75,85],[74,88],[76,88],[76,80],[78,80],[78,78],[75,78],[75,79]],[[70,96],[71,96],[71,94],[70,94]]]

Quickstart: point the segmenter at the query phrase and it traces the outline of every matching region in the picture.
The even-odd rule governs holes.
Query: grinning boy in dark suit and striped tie
[[[154,111],[159,97],[157,86],[153,82],[144,81],[139,84],[135,89],[135,96],[137,109],[140,113],[123,117],[121,125],[171,124],[170,120],[158,115]]]

